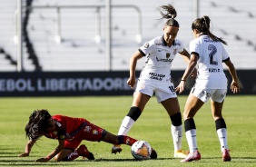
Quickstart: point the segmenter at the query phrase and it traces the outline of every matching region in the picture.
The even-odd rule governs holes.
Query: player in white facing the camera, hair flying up
[[[135,87],[137,61],[146,57],[146,62],[133,94],[132,107],[124,117],[118,134],[126,135],[131,130],[133,123],[143,112],[144,106],[155,93],[158,103],[162,103],[171,118],[174,157],[184,158],[187,152],[182,151],[182,114],[172,83],[171,66],[176,54],[181,54],[187,63],[190,54],[184,49],[182,42],[175,39],[179,31],[179,24],[174,19],[177,15],[176,10],[172,5],[162,5],[160,9],[162,9],[162,18],[168,18],[163,26],[164,34],[144,44],[131,57],[130,78],[127,81],[131,88]],[[113,146],[113,153],[121,151],[120,146]]]

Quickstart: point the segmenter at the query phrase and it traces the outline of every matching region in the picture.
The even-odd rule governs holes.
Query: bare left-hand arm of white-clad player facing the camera
[[[130,77],[127,81],[127,84],[129,84],[131,88],[134,88],[134,85],[136,83],[135,70],[136,70],[137,61],[142,57],[143,57],[143,54],[140,51],[136,51],[130,59]]]

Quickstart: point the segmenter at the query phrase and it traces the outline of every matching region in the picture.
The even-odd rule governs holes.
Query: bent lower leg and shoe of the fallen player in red
[[[74,159],[79,156],[83,156],[83,158],[87,158],[89,160],[94,160],[94,154],[89,152],[84,144],[77,148],[81,142],[82,141],[75,140],[73,142],[65,141],[64,149],[54,157],[54,160],[56,162],[70,162],[74,161]]]

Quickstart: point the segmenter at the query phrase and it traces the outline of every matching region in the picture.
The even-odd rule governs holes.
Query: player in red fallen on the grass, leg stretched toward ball
[[[47,110],[36,110],[30,115],[29,122],[25,126],[25,133],[29,137],[29,141],[25,146],[25,152],[20,154],[20,157],[29,156],[34,142],[43,135],[47,138],[57,139],[59,142],[53,152],[36,160],[36,162],[48,162],[52,158],[57,162],[73,161],[79,156],[94,160],[94,154],[89,152],[85,145],[80,145],[77,148],[83,140],[113,144],[124,143],[131,146],[137,141],[129,136],[116,136],[108,133],[84,118],[73,118],[65,115],[51,116]],[[157,158],[154,150],[151,158]]]

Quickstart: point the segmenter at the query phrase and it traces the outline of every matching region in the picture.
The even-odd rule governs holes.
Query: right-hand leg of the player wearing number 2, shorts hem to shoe
[[[222,107],[224,103],[226,90],[217,90],[212,95],[211,107],[212,117],[215,121],[216,132],[219,137],[222,151],[222,161],[230,162],[231,155],[229,153],[228,141],[227,141],[227,126],[225,120],[222,117]]]

